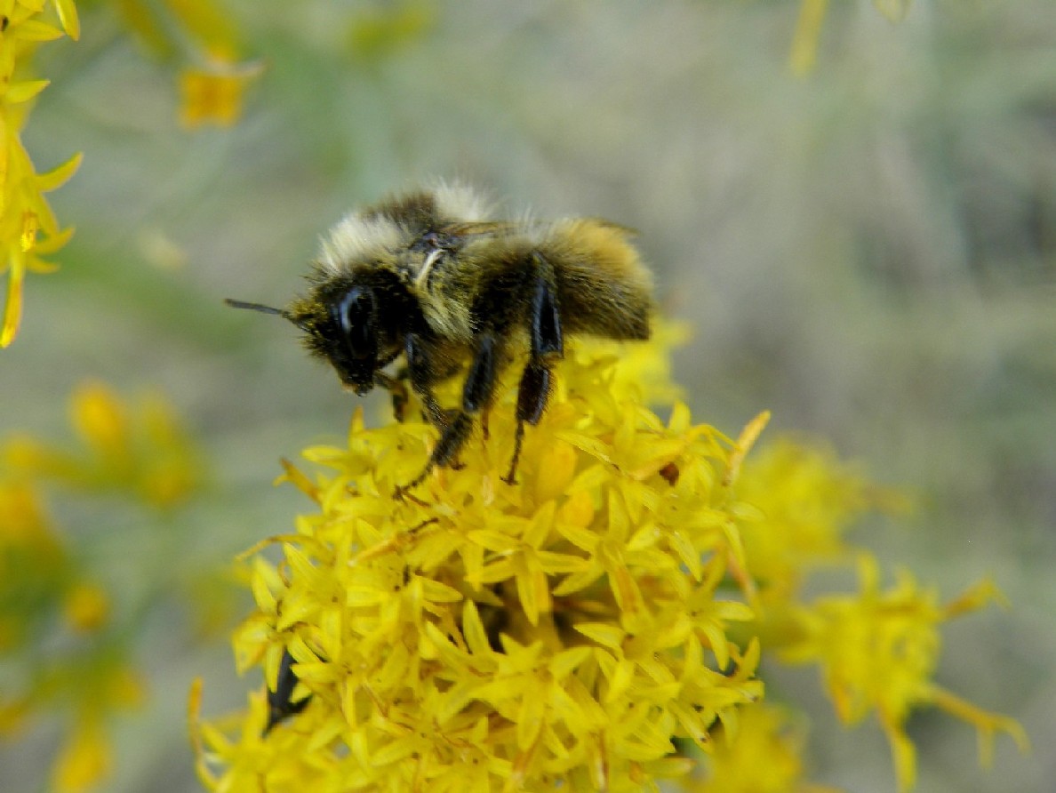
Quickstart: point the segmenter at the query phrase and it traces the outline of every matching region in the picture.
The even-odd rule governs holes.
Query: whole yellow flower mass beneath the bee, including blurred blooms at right
[[[402,502],[434,438],[425,423],[367,429],[357,411],[346,446],[304,452],[323,473],[286,464],[282,478],[318,510],[264,543],[281,544],[278,563],[252,562],[258,608],[234,650],[266,690],[206,723],[194,692],[205,783],[484,793],[675,777],[821,791],[804,779],[799,731],[758,702],[760,654],[816,664],[848,723],[878,713],[902,789],[914,707],[1021,738],[930,681],[940,623],[982,605],[985,588],[939,607],[908,579],[882,592],[870,573],[860,594],[804,602],[816,567],[869,559],[844,534],[894,496],[802,443],[746,461],[765,415],[736,440],[678,401],[662,421],[644,404],[677,393],[670,340],[621,358],[582,343],[525,438],[515,486],[501,479],[512,391],[460,467]]]

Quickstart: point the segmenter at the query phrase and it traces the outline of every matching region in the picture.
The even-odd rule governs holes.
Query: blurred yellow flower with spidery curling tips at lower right
[[[972,723],[984,739],[983,759],[994,733],[1011,735],[1021,749],[1026,737],[1013,719],[972,705],[932,681],[941,637],[939,626],[981,608],[997,597],[988,582],[941,605],[908,571],[883,590],[875,562],[859,562],[861,592],[818,598],[799,610],[802,638],[781,656],[793,663],[817,663],[836,713],[847,723],[875,712],[891,744],[899,790],[916,779],[916,751],[905,724],[912,711],[938,706]]]

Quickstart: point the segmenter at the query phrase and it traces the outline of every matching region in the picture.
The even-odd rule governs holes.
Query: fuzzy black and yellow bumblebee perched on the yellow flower
[[[649,336],[652,279],[630,235],[593,218],[489,220],[474,192],[441,185],[348,214],[324,239],[307,294],[286,308],[227,302],[293,322],[345,388],[389,390],[398,418],[410,383],[440,435],[425,470],[397,495],[433,468],[457,465],[502,373],[527,353],[505,477],[513,484],[525,424],[546,410],[566,336]],[[386,374],[398,358],[402,369]],[[433,388],[467,362],[461,403],[444,410]]]

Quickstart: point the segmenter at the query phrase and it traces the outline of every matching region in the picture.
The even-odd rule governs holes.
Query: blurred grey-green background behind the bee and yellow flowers
[[[78,3],[80,40],[36,58],[52,83],[23,139],[38,170],[83,152],[50,195],[77,232],[57,273],[29,277],[0,354],[2,437],[75,446],[70,395],[100,380],[164,395],[197,442],[183,506],[49,502],[134,626],[145,678],[139,709],[109,722],[103,790],[199,789],[190,680],[210,715],[260,684],[233,671],[228,630],[250,605],[224,566],[309,509],[271,487],[279,458],[340,442],[357,403],[295,328],[223,299],[283,305],[351,206],[432,177],[479,185],[501,214],[639,229],[666,314],[693,327],[676,373],[698,420],[736,434],[770,409],[768,434],[825,438],[910,493],[911,515],[852,540],[943,599],[995,578],[1011,608],[948,625],[938,680],[1020,719],[1035,747],[1000,738],[983,772],[972,729],[923,712],[918,789],[1052,790],[1051,0],[917,0],[897,23],[832,3],[798,69],[797,2],[218,0],[233,125],[196,115],[187,70],[211,67],[186,25],[142,3],[152,39],[130,24],[139,5]],[[845,731],[815,675],[794,682],[816,703],[812,777],[893,791],[875,722]],[[0,742],[0,790],[45,789],[64,723]]]

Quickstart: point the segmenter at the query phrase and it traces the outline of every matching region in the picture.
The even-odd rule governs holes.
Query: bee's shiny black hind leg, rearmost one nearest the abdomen
[[[539,423],[546,410],[553,390],[553,361],[564,356],[564,334],[561,329],[561,315],[553,287],[546,276],[552,270],[542,257],[532,295],[530,322],[531,357],[521,375],[517,386],[517,429],[513,437],[513,459],[510,472],[504,477],[509,485],[516,484],[517,461],[521,459],[521,443],[524,440],[525,423]]]

